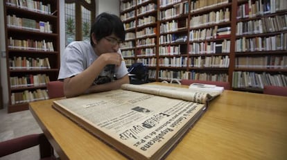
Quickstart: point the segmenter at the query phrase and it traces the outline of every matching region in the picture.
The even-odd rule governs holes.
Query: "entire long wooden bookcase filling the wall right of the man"
[[[132,10],[135,11],[134,16],[128,21],[122,18],[125,23],[134,20],[134,24],[137,24],[139,19],[153,15],[156,19],[156,23],[146,26],[135,25],[132,30],[128,29],[129,33],[137,33],[150,26],[156,27],[155,54],[142,54],[142,49],[150,46],[141,46],[137,43],[154,35],[146,34],[139,37],[136,34],[133,39],[135,45],[129,48],[134,51],[134,55],[125,56],[125,59],[146,64],[150,70],[149,77],[156,81],[173,78],[224,81],[229,82],[232,89],[252,92],[262,92],[263,84],[287,86],[284,83],[287,75],[287,8],[280,5],[283,1],[261,0],[262,4],[259,5],[257,0],[122,0],[121,17]],[[275,4],[272,4],[273,2]],[[131,3],[132,7],[128,7]],[[157,7],[156,13],[153,11],[138,14],[137,10],[142,10],[143,6],[153,3]],[[263,8],[263,13],[258,13],[261,12],[258,11],[259,6]],[[266,9],[269,8],[267,6],[270,6],[270,11]],[[248,16],[244,15],[242,10]],[[259,20],[264,23],[258,25]],[[244,29],[241,29],[243,26]],[[261,30],[250,26],[257,28],[260,26]],[[267,49],[257,49],[258,46],[247,47],[250,43],[246,41],[254,44],[262,42],[261,48],[266,45],[263,41],[268,41],[270,45]],[[238,48],[243,46],[243,42],[245,42],[244,51]],[[238,64],[246,61],[245,59],[254,65]],[[267,62],[268,65],[259,67],[256,64],[259,61]],[[275,79],[273,81],[276,82],[261,82],[261,87],[258,85],[238,87],[235,85],[238,84],[238,80],[235,80],[234,74],[241,72],[246,75],[250,75],[249,73],[268,75],[268,78]],[[242,75],[239,76],[242,78]],[[260,75],[256,75],[258,76]],[[238,78],[238,75],[236,77]],[[277,82],[279,77],[281,82]]]

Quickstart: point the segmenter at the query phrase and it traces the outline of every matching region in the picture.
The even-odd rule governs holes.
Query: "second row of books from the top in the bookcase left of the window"
[[[16,17],[16,15],[7,15],[7,26],[42,33],[52,33],[49,21],[36,21],[35,19]]]

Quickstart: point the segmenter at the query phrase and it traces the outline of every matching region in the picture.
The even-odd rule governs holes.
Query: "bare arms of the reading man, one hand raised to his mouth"
[[[85,71],[82,71],[82,73],[79,73],[71,78],[64,79],[64,95],[67,98],[70,98],[79,96],[80,94],[85,94],[87,89],[91,87],[94,80],[98,77],[107,64],[115,64],[116,66],[119,66],[121,65],[121,61],[121,55],[119,53],[105,53],[99,56],[92,63],[92,65],[85,69]],[[126,78],[121,78],[119,82],[108,83],[111,86],[103,85],[99,87],[99,89],[104,91],[105,87],[108,87],[107,89],[115,88],[116,85],[119,85],[120,87],[120,85],[123,83],[122,81],[127,82]]]

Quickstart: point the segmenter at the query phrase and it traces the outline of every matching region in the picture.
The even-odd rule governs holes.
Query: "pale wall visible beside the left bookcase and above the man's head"
[[[0,51],[6,51],[5,48],[5,29],[4,29],[4,14],[3,14],[3,1],[0,0]],[[65,28],[64,28],[64,1],[60,3],[60,53],[65,48]],[[119,1],[114,0],[96,0],[96,15],[101,12],[109,12],[114,15],[119,15]],[[1,86],[3,88],[3,103],[4,107],[8,105],[8,82],[7,82],[7,71],[6,71],[6,57],[0,56],[0,68],[1,68]]]

